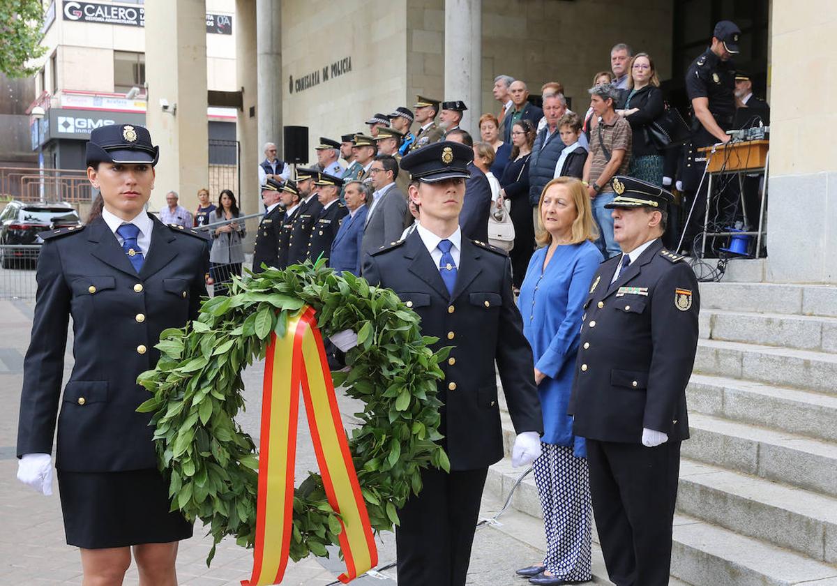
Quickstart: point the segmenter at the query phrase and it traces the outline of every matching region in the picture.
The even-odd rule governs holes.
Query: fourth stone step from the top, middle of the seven
[[[689,412],[837,442],[837,397],[737,378],[692,374]]]

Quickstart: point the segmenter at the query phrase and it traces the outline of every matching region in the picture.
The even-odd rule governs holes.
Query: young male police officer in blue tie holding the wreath
[[[454,346],[439,383],[440,432],[450,473],[422,471],[424,488],[398,517],[398,584],[465,584],[471,544],[489,465],[503,456],[495,362],[518,433],[513,460],[540,455],[541,406],[533,379],[531,347],[511,292],[506,253],[462,236],[467,146],[437,142],[403,158],[418,187],[410,198],[419,225],[407,239],[366,254],[362,275],[391,288],[421,317],[434,348]]]

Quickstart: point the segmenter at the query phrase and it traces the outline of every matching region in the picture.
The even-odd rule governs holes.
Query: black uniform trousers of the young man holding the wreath
[[[398,511],[398,586],[464,586],[487,475],[422,471],[422,491]]]

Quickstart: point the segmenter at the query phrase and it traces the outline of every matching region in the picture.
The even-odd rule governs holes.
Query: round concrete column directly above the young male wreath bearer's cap
[[[482,0],[444,0],[444,97],[468,106],[460,126],[480,136]]]

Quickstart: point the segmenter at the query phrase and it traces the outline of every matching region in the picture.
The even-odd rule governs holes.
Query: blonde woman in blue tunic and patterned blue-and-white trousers
[[[602,262],[587,190],[575,177],[557,177],[538,203],[537,243],[517,305],[535,357],[541,398],[542,455],[534,462],[547,554],[517,573],[535,584],[591,578],[591,501],[584,439],[573,435],[567,404],[573,384],[583,304]],[[607,284],[597,284],[607,286]],[[593,285],[596,286],[596,285]]]

